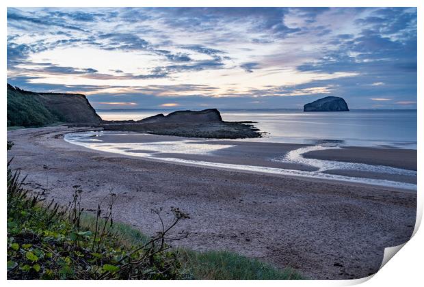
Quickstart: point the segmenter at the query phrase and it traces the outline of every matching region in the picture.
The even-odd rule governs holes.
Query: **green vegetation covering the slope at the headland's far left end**
[[[38,127],[59,122],[36,94],[8,85],[8,126]]]

